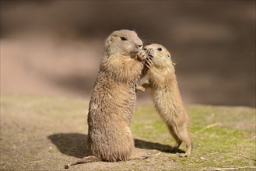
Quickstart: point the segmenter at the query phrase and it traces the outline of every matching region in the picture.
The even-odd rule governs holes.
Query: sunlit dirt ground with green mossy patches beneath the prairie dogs
[[[1,170],[61,170],[88,155],[88,101],[52,96],[1,96]],[[255,108],[188,106],[195,148],[167,152],[174,139],[151,105],[136,107],[135,152],[145,160],[92,162],[78,170],[255,170]],[[226,169],[225,169],[226,168]]]

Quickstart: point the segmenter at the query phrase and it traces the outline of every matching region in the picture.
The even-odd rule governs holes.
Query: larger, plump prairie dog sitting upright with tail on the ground
[[[96,161],[146,159],[132,154],[130,128],[135,108],[135,84],[142,73],[146,51],[134,31],[118,30],[107,37],[100,72],[91,92],[88,113],[88,147],[91,155],[69,166]]]

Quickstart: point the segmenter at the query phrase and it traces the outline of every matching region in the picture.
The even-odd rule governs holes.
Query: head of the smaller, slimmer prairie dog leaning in
[[[156,68],[165,68],[166,66],[175,65],[171,60],[170,52],[161,44],[149,44],[144,50],[153,57],[153,64]]]

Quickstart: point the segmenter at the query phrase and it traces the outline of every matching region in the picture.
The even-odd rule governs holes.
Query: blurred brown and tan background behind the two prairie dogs
[[[255,1],[1,1],[1,94],[89,99],[121,29],[170,50],[185,103],[255,106]]]

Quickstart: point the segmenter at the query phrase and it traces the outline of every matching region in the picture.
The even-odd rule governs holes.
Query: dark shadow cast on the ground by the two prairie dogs
[[[89,149],[87,148],[87,134],[61,133],[51,134],[47,138],[50,139],[54,145],[56,145],[62,154],[74,156],[80,159],[90,155]],[[145,141],[141,139],[135,139],[135,147],[144,149],[156,149],[160,152],[184,152],[181,149],[171,151],[170,145],[162,145],[160,143]]]

